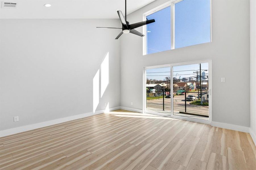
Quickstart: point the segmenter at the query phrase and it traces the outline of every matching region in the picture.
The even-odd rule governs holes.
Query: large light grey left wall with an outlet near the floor
[[[119,21],[0,20],[1,131],[92,112],[93,77],[108,52],[109,84],[102,97],[101,86],[95,90],[96,111],[106,108],[104,102],[120,106],[120,30],[96,26],[115,27]]]

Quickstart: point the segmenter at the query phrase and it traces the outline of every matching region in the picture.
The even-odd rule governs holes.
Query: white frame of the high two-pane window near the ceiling
[[[146,21],[146,17],[162,10],[166,7],[171,7],[171,50],[175,49],[175,4],[183,0],[171,0],[158,7],[155,7],[145,13],[143,13],[143,21]],[[212,42],[212,0],[210,0],[210,42]],[[143,55],[147,55],[147,27],[143,25]],[[207,42],[206,42],[207,43]],[[197,44],[195,44],[197,45]]]

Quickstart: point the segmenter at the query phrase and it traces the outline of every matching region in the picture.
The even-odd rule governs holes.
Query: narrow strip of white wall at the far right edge
[[[250,133],[256,144],[256,1],[250,1],[250,90],[251,126]]]

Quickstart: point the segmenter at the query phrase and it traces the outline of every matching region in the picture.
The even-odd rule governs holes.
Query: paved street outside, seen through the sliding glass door
[[[188,93],[187,95],[195,95],[194,93]],[[196,113],[209,116],[208,106],[190,105],[191,101],[187,101],[187,112]],[[174,96],[173,98],[174,114],[180,111],[185,112],[185,95]],[[149,110],[163,110],[163,99],[147,100],[147,109]],[[165,111],[171,111],[171,100],[165,98]]]

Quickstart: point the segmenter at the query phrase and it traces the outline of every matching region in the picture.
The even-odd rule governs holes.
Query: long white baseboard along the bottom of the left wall
[[[25,132],[25,131],[28,131],[28,130],[38,129],[38,128],[42,128],[42,127],[45,127],[45,126],[51,126],[51,125],[54,125],[54,124],[59,124],[59,123],[67,122],[67,121],[70,121],[70,120],[80,119],[80,118],[93,116],[93,115],[96,115],[96,114],[101,114],[101,113],[104,113],[104,112],[114,111],[114,110],[118,110],[118,109],[120,109],[120,107],[113,107],[113,108],[109,108],[109,109],[103,109],[103,110],[95,111],[94,113],[93,112],[88,112],[88,113],[78,114],[78,115],[74,115],[74,116],[59,118],[59,119],[55,119],[55,120],[49,120],[49,121],[46,121],[46,122],[40,122],[40,123],[36,123],[36,124],[20,126],[20,127],[17,127],[17,128],[1,130],[0,131],[0,137],[13,135],[15,133],[20,133],[20,132]]]

